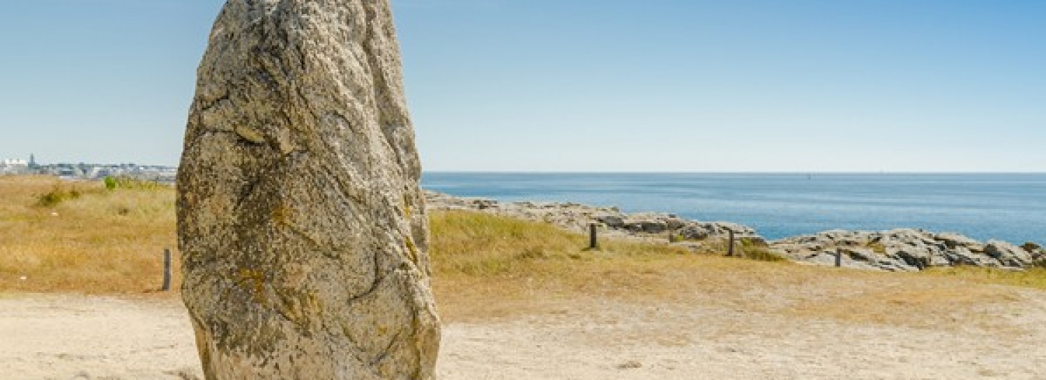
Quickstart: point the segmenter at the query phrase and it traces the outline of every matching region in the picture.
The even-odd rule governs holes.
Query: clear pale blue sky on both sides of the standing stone
[[[1046,1],[392,0],[430,171],[1046,172]],[[0,0],[0,158],[175,164],[220,0]]]

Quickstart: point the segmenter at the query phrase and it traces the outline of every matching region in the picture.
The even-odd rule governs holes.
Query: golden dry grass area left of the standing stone
[[[156,290],[163,248],[176,245],[174,209],[170,187],[0,177],[0,291]]]

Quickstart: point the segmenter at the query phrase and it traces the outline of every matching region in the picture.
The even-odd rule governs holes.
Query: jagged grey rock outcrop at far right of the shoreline
[[[957,265],[1022,269],[1046,259],[1031,243],[1024,247],[994,240],[981,243],[954,232],[920,229],[833,230],[782,239],[770,247],[789,259],[822,265],[834,265],[836,252],[841,251],[845,267],[889,271]]]

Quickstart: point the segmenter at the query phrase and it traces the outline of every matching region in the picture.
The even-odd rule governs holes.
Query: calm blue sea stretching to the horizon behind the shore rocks
[[[768,239],[923,228],[1046,242],[1046,174],[426,173],[425,188],[736,222]]]

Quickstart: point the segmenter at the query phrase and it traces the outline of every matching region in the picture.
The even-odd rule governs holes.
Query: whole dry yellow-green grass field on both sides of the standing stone
[[[467,320],[546,312],[571,299],[719,303],[753,311],[889,322],[904,308],[945,315],[1013,299],[994,285],[1046,289],[1046,272],[980,268],[881,273],[693,254],[664,244],[604,242],[548,224],[433,213],[440,312]],[[170,187],[0,177],[0,292],[157,293],[175,248]],[[176,263],[177,263],[177,251]],[[178,286],[175,271],[175,287]],[[907,317],[906,317],[907,318]],[[907,318],[912,319],[912,318]],[[917,318],[916,318],[917,319]],[[931,319],[931,318],[927,318]]]

